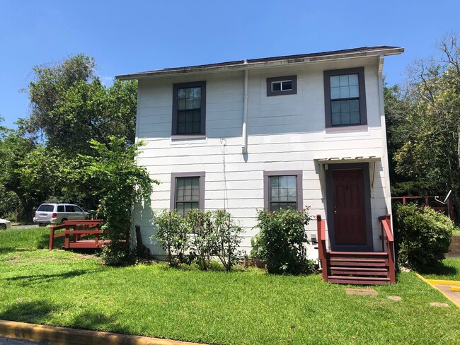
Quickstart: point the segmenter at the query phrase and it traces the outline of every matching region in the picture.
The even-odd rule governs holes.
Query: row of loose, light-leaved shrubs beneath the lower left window
[[[155,218],[156,235],[152,237],[166,250],[172,267],[196,259],[201,269],[209,269],[217,257],[226,271],[231,271],[242,253],[238,250],[243,228],[224,210],[192,209],[183,217],[165,209]]]

